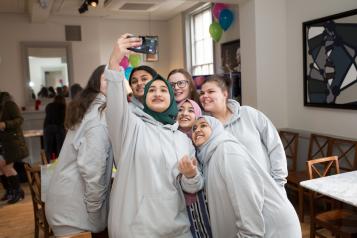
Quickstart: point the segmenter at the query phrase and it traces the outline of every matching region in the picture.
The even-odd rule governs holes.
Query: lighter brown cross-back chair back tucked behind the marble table
[[[306,163],[309,179],[340,173],[337,156],[308,160]],[[332,170],[335,170],[335,172],[333,173]]]

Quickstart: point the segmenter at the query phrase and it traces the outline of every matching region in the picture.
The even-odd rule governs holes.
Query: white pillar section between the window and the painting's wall
[[[285,0],[240,3],[242,98],[276,127],[287,125]]]

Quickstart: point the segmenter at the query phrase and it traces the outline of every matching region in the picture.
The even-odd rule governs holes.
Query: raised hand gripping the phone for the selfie
[[[142,41],[141,38],[138,37],[130,37],[131,34],[126,33],[122,35],[116,42],[112,54],[109,60],[109,69],[119,71],[119,63],[123,59],[125,55],[128,55],[131,51],[128,50],[130,47],[138,47],[141,46]]]

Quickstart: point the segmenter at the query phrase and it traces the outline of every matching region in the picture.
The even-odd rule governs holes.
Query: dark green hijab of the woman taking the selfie
[[[167,88],[169,90],[169,93],[170,93],[170,105],[166,109],[166,111],[164,111],[164,112],[154,112],[146,105],[146,95],[148,94],[148,91],[149,91],[149,88],[150,88],[151,84],[155,80],[163,81],[166,84],[166,86],[167,86]],[[151,81],[149,81],[145,85],[145,89],[144,89],[144,112],[146,112],[147,114],[149,114],[150,116],[155,118],[155,120],[161,122],[164,125],[166,125],[166,124],[173,125],[176,122],[176,116],[177,116],[178,110],[177,110],[177,104],[176,104],[176,101],[175,101],[174,90],[172,89],[172,87],[169,84],[169,82],[159,74],[157,74]]]

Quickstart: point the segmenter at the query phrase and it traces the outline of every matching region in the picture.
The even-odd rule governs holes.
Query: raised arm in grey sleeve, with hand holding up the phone
[[[132,138],[131,135],[134,133],[136,122],[138,122],[138,118],[129,110],[124,71],[119,66],[122,58],[130,53],[127,48],[141,44],[140,40],[137,40],[138,38],[127,38],[128,35],[124,34],[117,40],[104,72],[108,81],[107,124],[117,165],[121,158],[123,144],[125,140],[129,141]]]

